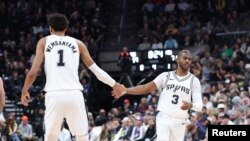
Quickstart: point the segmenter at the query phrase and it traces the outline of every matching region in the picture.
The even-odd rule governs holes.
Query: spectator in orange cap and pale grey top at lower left
[[[38,137],[33,135],[33,127],[28,123],[27,116],[22,116],[22,123],[18,127],[19,136],[22,141],[38,141]]]

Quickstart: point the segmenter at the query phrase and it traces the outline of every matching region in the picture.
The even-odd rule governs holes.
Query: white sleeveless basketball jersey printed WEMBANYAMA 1
[[[79,82],[79,49],[76,39],[49,35],[44,48],[46,84],[44,90],[82,90]]]

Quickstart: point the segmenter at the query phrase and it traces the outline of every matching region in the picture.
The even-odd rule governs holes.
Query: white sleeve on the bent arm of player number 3
[[[193,93],[192,93],[192,110],[202,110],[202,97],[201,97],[201,84],[198,78],[194,77],[193,80]]]

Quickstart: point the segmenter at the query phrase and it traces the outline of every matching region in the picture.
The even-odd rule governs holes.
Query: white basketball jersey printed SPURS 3
[[[191,102],[194,75],[176,76],[175,71],[160,74],[154,82],[162,88],[157,110],[169,116],[187,118],[188,110],[182,110],[182,101]]]

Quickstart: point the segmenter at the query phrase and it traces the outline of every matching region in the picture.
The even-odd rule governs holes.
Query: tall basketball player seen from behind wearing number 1
[[[69,21],[64,15],[52,14],[48,18],[48,24],[51,35],[41,38],[37,43],[36,55],[25,79],[21,101],[24,106],[28,106],[28,90],[44,59],[45,141],[57,140],[64,118],[76,140],[86,141],[88,120],[81,92],[83,87],[78,77],[79,58],[100,81],[117,93],[122,92],[122,86],[95,64],[83,42],[65,35]]]

